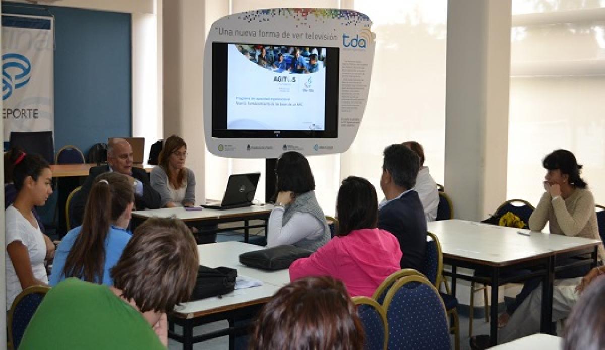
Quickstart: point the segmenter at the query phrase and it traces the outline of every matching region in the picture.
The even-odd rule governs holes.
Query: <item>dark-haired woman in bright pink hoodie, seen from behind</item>
[[[351,296],[370,297],[381,282],[399,270],[397,238],[376,228],[378,198],[372,184],[358,177],[342,181],[336,198],[336,236],[309,258],[290,266],[290,279],[331,276],[342,280]]]

